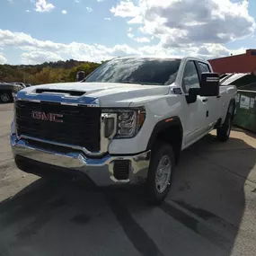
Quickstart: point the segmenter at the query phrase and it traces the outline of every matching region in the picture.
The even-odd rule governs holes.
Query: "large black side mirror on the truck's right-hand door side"
[[[200,96],[219,95],[219,75],[217,73],[202,73]]]

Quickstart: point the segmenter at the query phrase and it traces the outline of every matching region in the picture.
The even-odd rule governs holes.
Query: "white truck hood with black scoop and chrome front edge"
[[[18,93],[17,98],[128,107],[137,99],[139,102],[146,102],[168,92],[169,87],[164,85],[76,82],[28,87]]]

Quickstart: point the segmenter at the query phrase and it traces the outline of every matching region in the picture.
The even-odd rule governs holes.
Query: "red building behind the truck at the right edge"
[[[216,73],[251,73],[256,71],[256,49],[246,53],[208,60]]]

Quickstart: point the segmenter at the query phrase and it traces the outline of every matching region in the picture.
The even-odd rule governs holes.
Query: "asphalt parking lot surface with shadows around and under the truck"
[[[0,255],[256,255],[256,137],[234,128],[182,152],[161,207],[142,191],[98,190],[17,170],[13,104],[0,105]]]

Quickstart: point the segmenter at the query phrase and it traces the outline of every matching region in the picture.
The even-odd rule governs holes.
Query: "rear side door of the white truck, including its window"
[[[197,61],[196,64],[198,66],[200,77],[202,73],[211,72],[210,67],[207,65],[207,63]],[[216,123],[216,120],[220,118],[220,98],[216,96],[208,96],[205,97],[205,101],[205,107],[207,110],[206,121],[209,129],[211,129]]]

